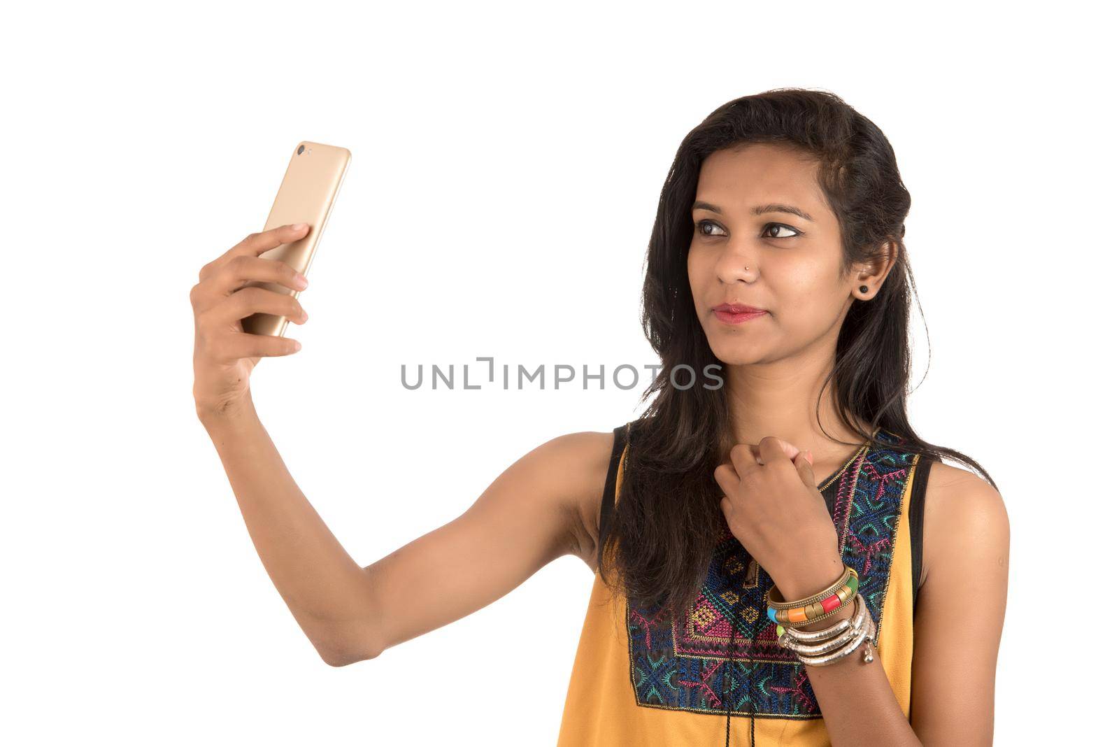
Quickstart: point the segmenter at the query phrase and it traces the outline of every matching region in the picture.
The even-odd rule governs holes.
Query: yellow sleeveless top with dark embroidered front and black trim
[[[600,537],[621,494],[628,425],[614,429]],[[887,445],[864,444],[819,488],[843,560],[859,573],[859,592],[877,625],[877,658],[908,718],[931,462],[906,451],[900,436],[884,429],[877,435]],[[657,608],[612,598],[595,573],[558,747],[694,747],[724,745],[727,738],[744,747],[751,719],[759,746],[828,745],[805,666],[777,644],[775,625],[765,615],[771,585],[728,529],[685,627],[664,622]]]

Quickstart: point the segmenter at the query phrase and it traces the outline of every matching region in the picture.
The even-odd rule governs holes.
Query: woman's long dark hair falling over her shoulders
[[[863,443],[881,444],[873,437],[881,427],[902,436],[906,451],[968,464],[995,485],[966,454],[922,441],[905,414],[913,272],[902,237],[910,195],[886,136],[827,92],[778,88],[727,102],[680,143],[660,192],[646,257],[641,322],[662,368],[642,397],[656,395],[653,401],[631,424],[618,507],[599,542],[603,579],[615,592],[624,589],[642,606],[662,604],[677,618],[695,602],[725,532],[722,491],[713,473],[731,447],[726,387],[677,388],[670,379],[676,366],[689,366],[702,377],[706,366],[721,365],[688,284],[692,205],[707,155],[755,142],[791,144],[818,161],[818,181],[839,219],[843,272],[869,261],[890,240],[897,246],[896,264],[882,289],[872,300],[854,303],[843,322],[835,367],[817,396],[817,423],[820,398],[834,380],[839,417]],[[850,415],[868,423],[869,432]],[[613,555],[605,551],[608,545]]]

